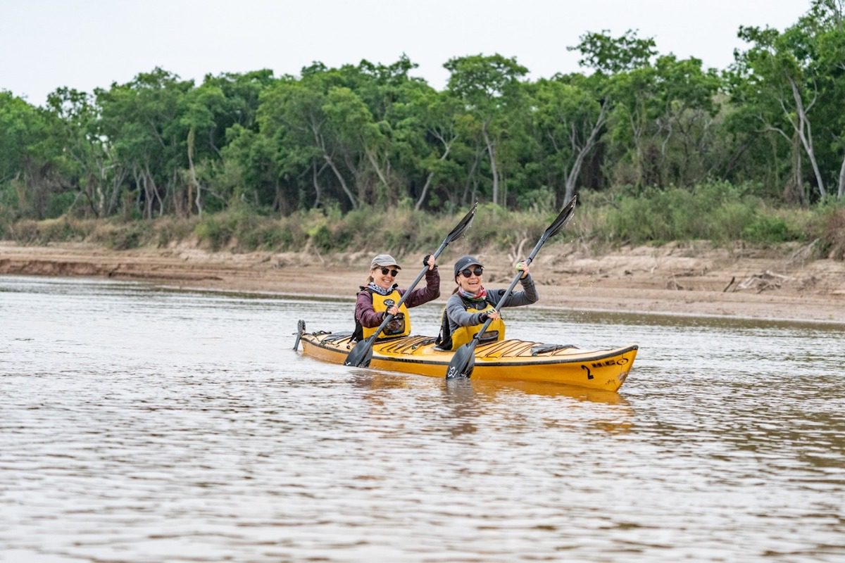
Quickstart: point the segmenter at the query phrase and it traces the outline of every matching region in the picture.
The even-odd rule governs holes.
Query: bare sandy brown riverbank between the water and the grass
[[[439,261],[445,273],[439,301],[445,301],[454,288],[451,265],[460,254],[447,251]],[[510,282],[510,257],[478,256],[487,267],[489,286]],[[800,252],[728,251],[704,245],[624,248],[592,255],[572,243],[544,248],[532,273],[540,286],[537,305],[544,307],[845,325],[845,263],[799,256]],[[422,255],[398,258],[405,269],[397,281],[404,286],[419,271]],[[366,277],[369,259],[369,252],[328,257],[0,242],[0,274],[144,280],[183,289],[350,301]]]

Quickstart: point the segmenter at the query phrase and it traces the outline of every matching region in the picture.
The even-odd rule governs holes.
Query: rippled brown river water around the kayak
[[[845,560],[842,326],[509,312],[617,394],[292,350],[352,308],[0,277],[0,560]]]

